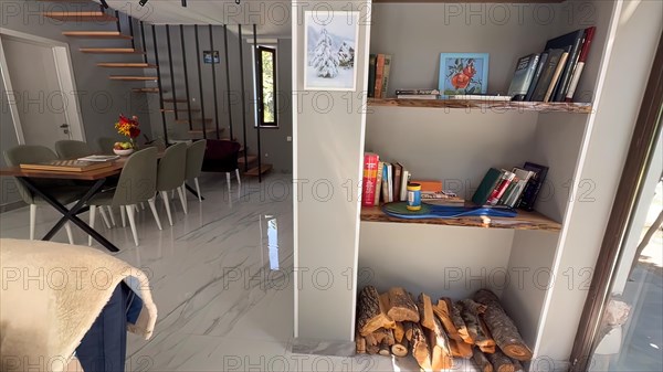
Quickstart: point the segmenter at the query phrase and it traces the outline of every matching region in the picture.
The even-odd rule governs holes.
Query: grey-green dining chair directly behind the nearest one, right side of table
[[[172,214],[170,213],[168,191],[177,190],[185,214],[188,213],[183,192],[186,167],[187,144],[183,142],[167,148],[166,151],[164,151],[164,157],[159,159],[159,168],[157,170],[157,192],[159,192],[161,199],[164,199],[164,206],[166,206],[166,214],[168,214],[168,222],[171,226]]]

